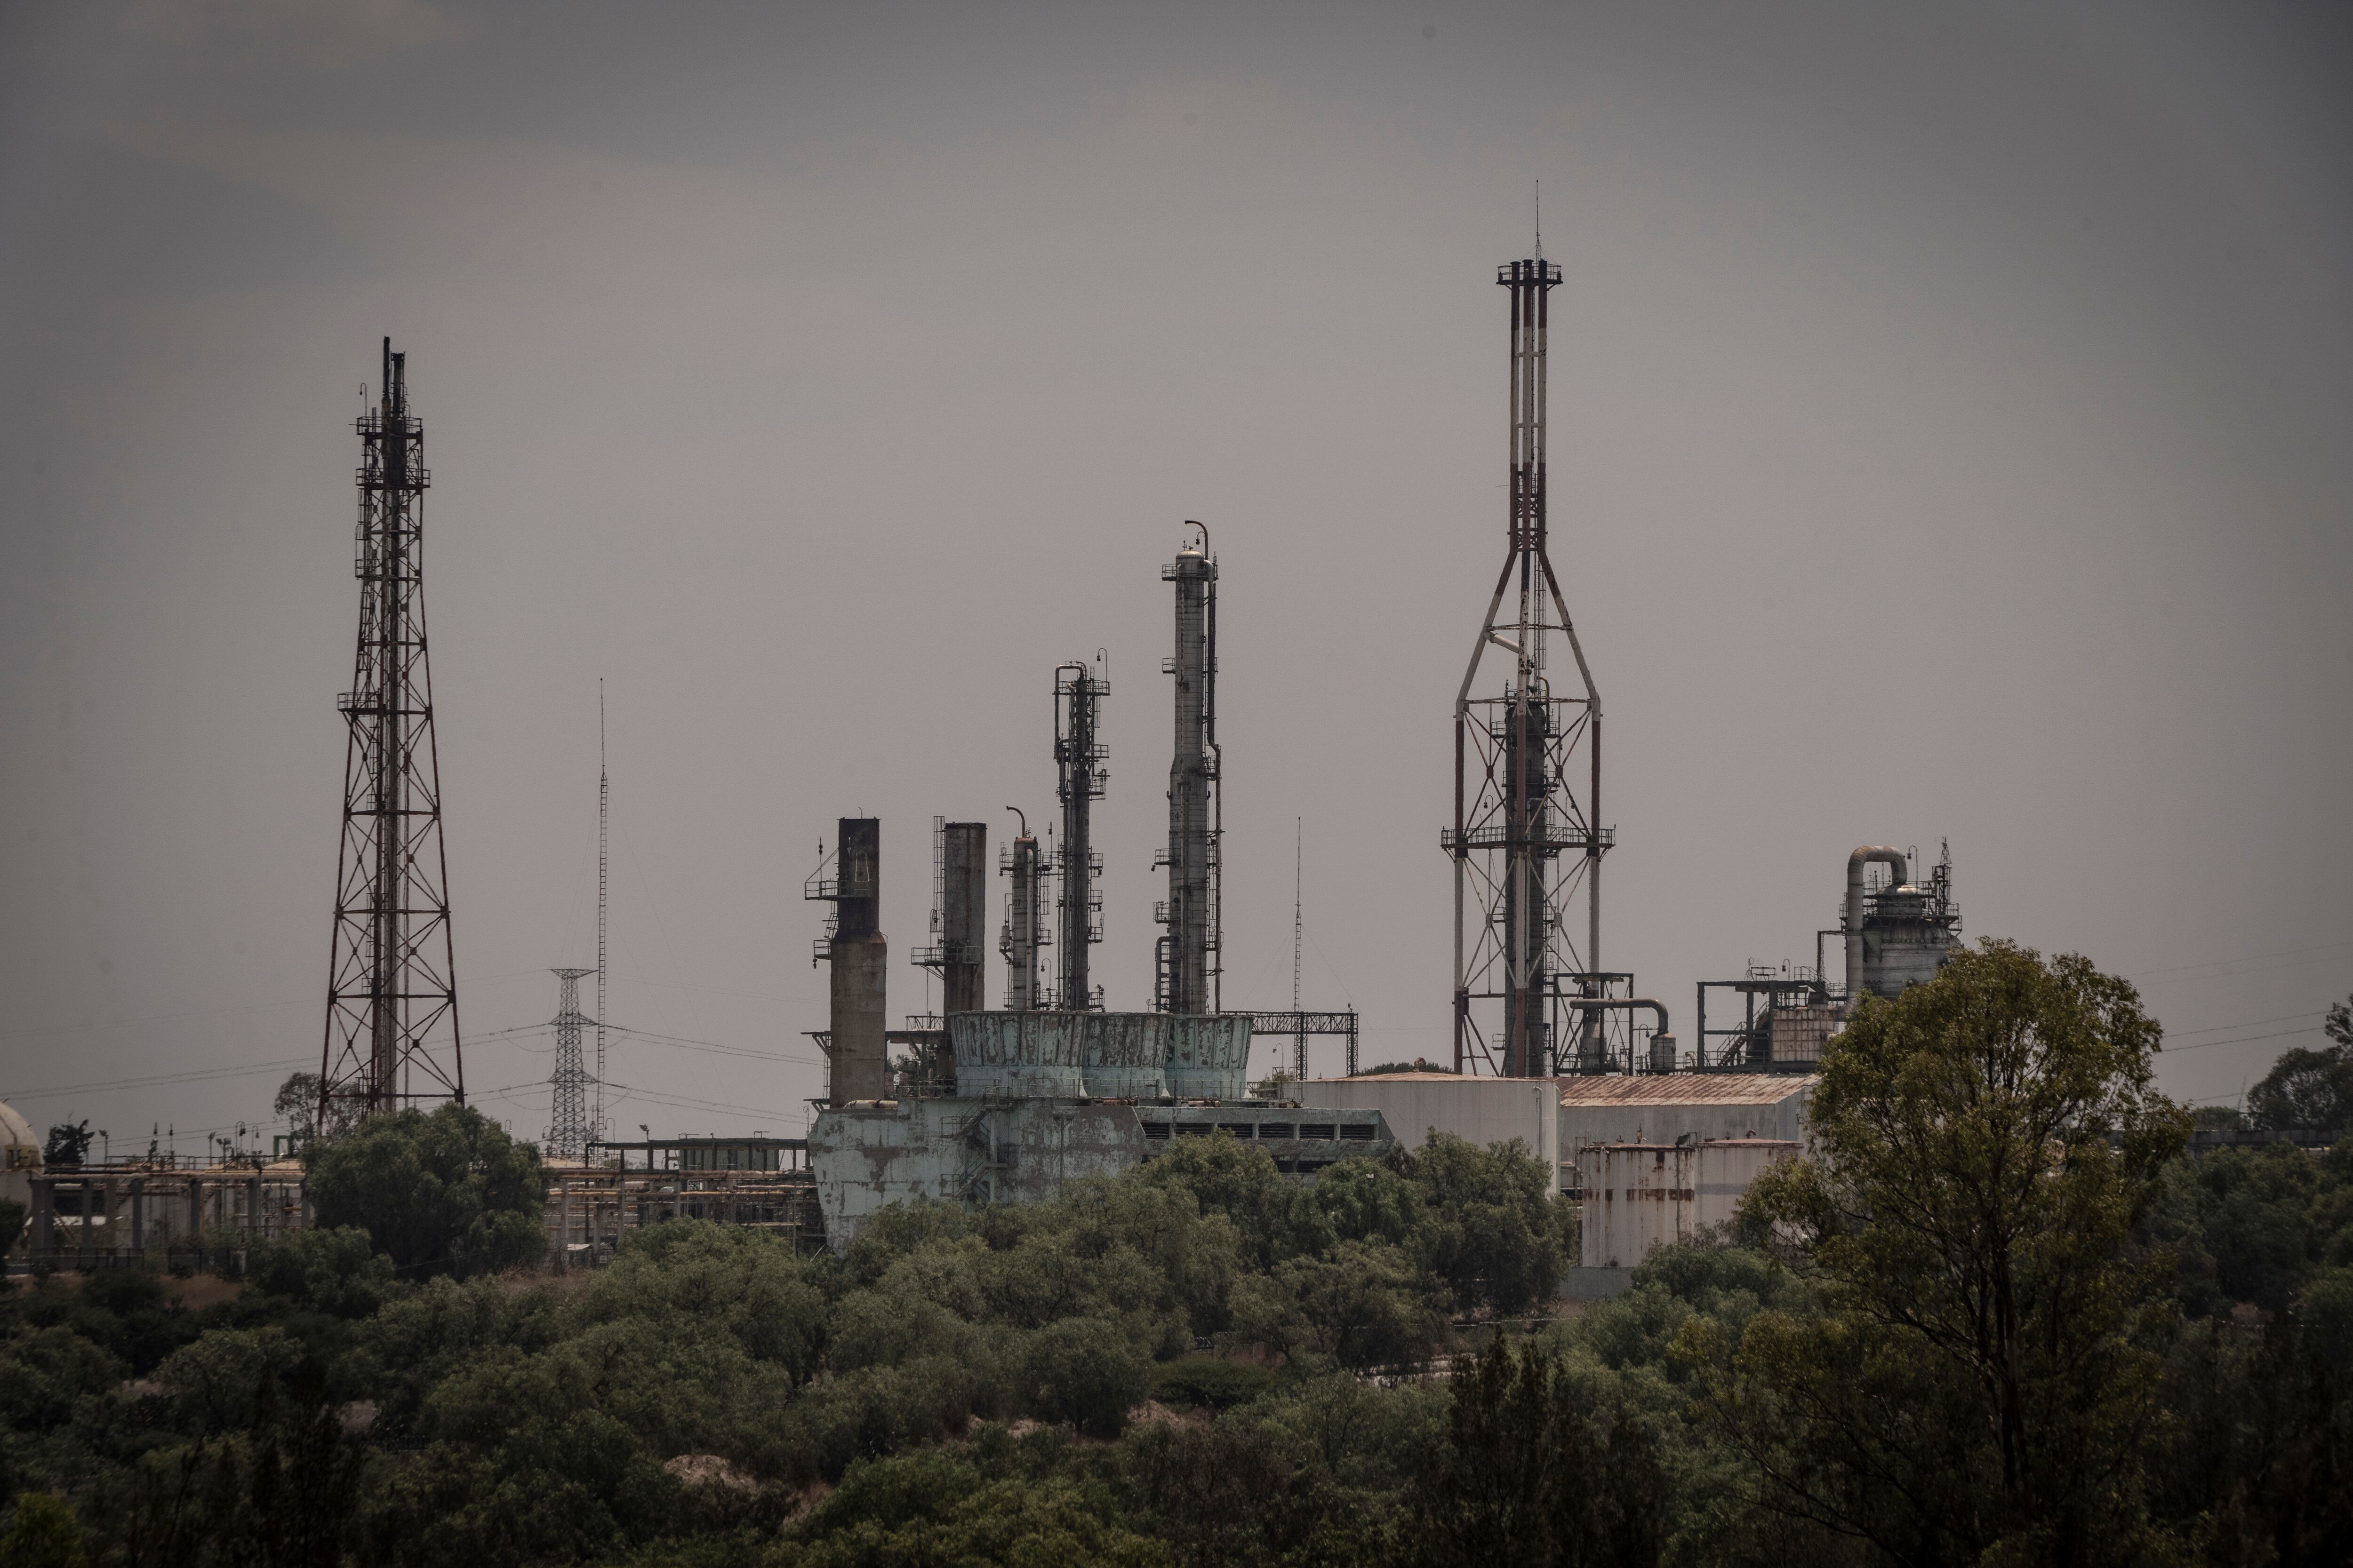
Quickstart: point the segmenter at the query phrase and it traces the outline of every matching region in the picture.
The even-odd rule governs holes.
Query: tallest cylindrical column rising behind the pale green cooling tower
[[[1191,524],[1200,529],[1200,524]],[[1176,750],[1169,762],[1169,898],[1160,917],[1158,994],[1162,1013],[1219,1006],[1219,816],[1217,799],[1217,562],[1209,531],[1160,569],[1176,585]]]

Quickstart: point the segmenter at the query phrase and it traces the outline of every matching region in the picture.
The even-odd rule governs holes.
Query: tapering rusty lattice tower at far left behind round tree
[[[318,1126],[466,1100],[442,849],[440,755],[424,607],[424,423],[407,355],[384,339],[381,397],[360,416],[360,646],[344,752],[344,846],[327,966]]]

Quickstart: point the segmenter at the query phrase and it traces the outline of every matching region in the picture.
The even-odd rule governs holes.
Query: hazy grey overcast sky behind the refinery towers
[[[1951,837],[2235,1095],[2353,990],[2348,87],[2341,5],[12,5],[0,1098],[191,1147],[318,1060],[381,334],[468,1034],[593,961],[602,677],[612,1018],[779,1058],[621,1044],[614,1121],[798,1128],[816,839],[882,816],[920,1011],[929,820],[1049,806],[1094,649],[1146,1006],[1202,517],[1226,999],[1304,818],[1308,1001],[1445,1053],[1539,179],[1605,961],[1687,1032]],[[468,1048],[520,1133],[548,1044]]]

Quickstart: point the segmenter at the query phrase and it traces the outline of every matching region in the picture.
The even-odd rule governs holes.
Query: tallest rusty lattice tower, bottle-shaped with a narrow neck
[[[1454,696],[1454,825],[1440,846],[1454,860],[1454,1065],[1537,1077],[1567,1048],[1560,1018],[1577,1034],[1600,1027],[1598,1011],[1569,999],[1612,992],[1600,973],[1612,832],[1600,825],[1602,698],[1546,531],[1546,299],[1560,266],[1544,261],[1539,240],[1537,256],[1501,266],[1497,282],[1511,296],[1511,543]],[[1482,686],[1489,649],[1504,665]],[[1555,670],[1562,649],[1572,668]]]

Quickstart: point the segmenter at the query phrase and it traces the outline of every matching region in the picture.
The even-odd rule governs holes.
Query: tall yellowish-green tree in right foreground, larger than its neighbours
[[[2139,1556],[2162,1267],[2129,1244],[2188,1138],[2155,1048],[2127,983],[2009,943],[1833,1037],[1809,1154],[1748,1197],[1824,1309],[1762,1314],[1718,1389],[1755,1453],[1798,1434],[1786,1507],[1913,1563]]]

